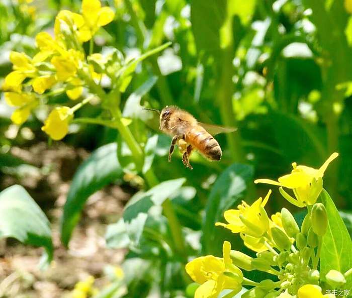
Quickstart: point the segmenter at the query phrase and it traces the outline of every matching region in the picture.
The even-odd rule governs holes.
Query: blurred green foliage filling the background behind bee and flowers
[[[123,265],[126,275],[138,268],[139,279],[126,277],[128,296],[148,296],[155,284],[162,296],[176,296],[190,282],[183,271],[187,257],[221,255],[225,238],[233,239],[234,249],[246,250],[239,239],[215,229],[214,223],[240,200],[251,203],[265,195],[267,187],[254,187],[254,178],[277,179],[291,171],[294,161],[317,168],[332,152],[340,155],[327,170],[324,187],[351,231],[352,5],[348,0],[115,0],[102,4],[116,15],[95,36],[96,52],[113,47],[131,58],[171,42],[138,65],[120,107],[123,116],[132,119],[129,128],[144,148],[145,164],[166,184],[137,192],[147,183],[131,168],[123,140],[112,128],[79,122],[79,117],[94,118],[103,112],[94,103],[84,106],[64,142],[96,151],[73,177],[61,231],[65,244],[89,195],[109,183],[130,187],[136,194],[106,234],[109,247],[129,248]],[[10,51],[33,55],[35,35],[53,32],[57,12],[79,12],[80,6],[80,1],[68,0],[2,0],[2,79],[11,71]],[[66,101],[65,94],[50,98],[51,104]],[[167,162],[170,138],[158,131],[157,120],[149,112],[141,110],[166,105],[177,105],[201,122],[238,128],[217,137],[224,151],[220,162],[195,154],[192,171],[183,166],[179,154]],[[33,165],[12,154],[12,148],[46,141],[40,127],[49,109],[41,106],[21,127],[11,124],[11,112],[2,96],[0,171],[2,177],[31,175]],[[175,248],[161,203],[156,204],[153,197],[161,203],[171,199],[186,239],[183,252]],[[274,191],[269,213],[284,206],[286,202]],[[302,218],[299,210],[296,215]],[[255,274],[252,278],[261,278]]]

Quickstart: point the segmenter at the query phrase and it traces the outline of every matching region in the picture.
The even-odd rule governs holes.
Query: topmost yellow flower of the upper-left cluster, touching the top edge
[[[109,7],[103,7],[99,0],[83,0],[82,15],[84,25],[78,27],[80,41],[88,41],[93,35],[103,27],[109,24],[115,16],[113,10]]]

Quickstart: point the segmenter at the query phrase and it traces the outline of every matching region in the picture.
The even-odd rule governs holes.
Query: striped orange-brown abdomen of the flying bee
[[[220,160],[222,151],[219,143],[202,126],[195,126],[186,134],[186,142],[211,160]]]

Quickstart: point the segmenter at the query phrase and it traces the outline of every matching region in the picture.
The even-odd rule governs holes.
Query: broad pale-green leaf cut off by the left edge
[[[0,192],[0,238],[12,237],[24,244],[43,246],[47,261],[53,257],[50,223],[21,185]]]

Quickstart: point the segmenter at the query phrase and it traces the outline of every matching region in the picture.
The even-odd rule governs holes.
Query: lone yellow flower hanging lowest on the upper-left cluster
[[[44,121],[42,130],[53,140],[61,140],[68,133],[68,123],[72,118],[72,113],[68,107],[59,107],[51,111]]]

